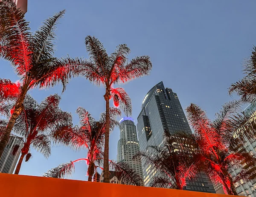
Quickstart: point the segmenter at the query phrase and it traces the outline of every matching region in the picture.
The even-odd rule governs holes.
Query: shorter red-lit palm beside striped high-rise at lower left
[[[26,156],[28,161],[32,156],[31,146],[48,158],[51,154],[53,133],[72,128],[72,116],[58,107],[60,99],[61,97],[55,94],[38,104],[31,96],[26,96],[23,111],[13,127],[13,133],[23,142],[20,145],[22,146],[21,156],[15,174],[19,174],[23,158]],[[14,148],[13,154],[16,154],[18,149],[19,145]]]

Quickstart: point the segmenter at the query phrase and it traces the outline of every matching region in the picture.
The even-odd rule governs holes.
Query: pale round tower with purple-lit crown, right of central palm
[[[137,138],[137,130],[134,125],[134,119],[124,117],[120,121],[120,140],[117,145],[117,162],[128,163],[132,169],[140,174],[143,179],[143,172],[140,159],[133,160],[133,156],[140,151],[140,145]]]

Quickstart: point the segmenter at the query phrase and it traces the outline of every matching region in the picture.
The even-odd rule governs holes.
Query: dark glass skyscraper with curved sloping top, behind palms
[[[172,92],[172,89],[165,88],[163,82],[152,87],[144,97],[137,129],[142,152],[150,151],[148,146],[163,146],[164,130],[171,134],[179,131],[191,133],[177,94]],[[152,177],[157,175],[157,172],[151,165],[145,165],[143,161],[142,166],[144,184],[149,186]],[[201,173],[193,182],[187,182],[186,189],[215,193],[209,177]]]

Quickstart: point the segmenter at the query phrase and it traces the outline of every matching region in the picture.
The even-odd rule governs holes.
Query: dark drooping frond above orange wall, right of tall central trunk
[[[110,161],[110,168],[113,169],[115,175],[119,177],[119,180],[126,185],[142,186],[142,179],[140,175],[129,166],[128,163]]]

